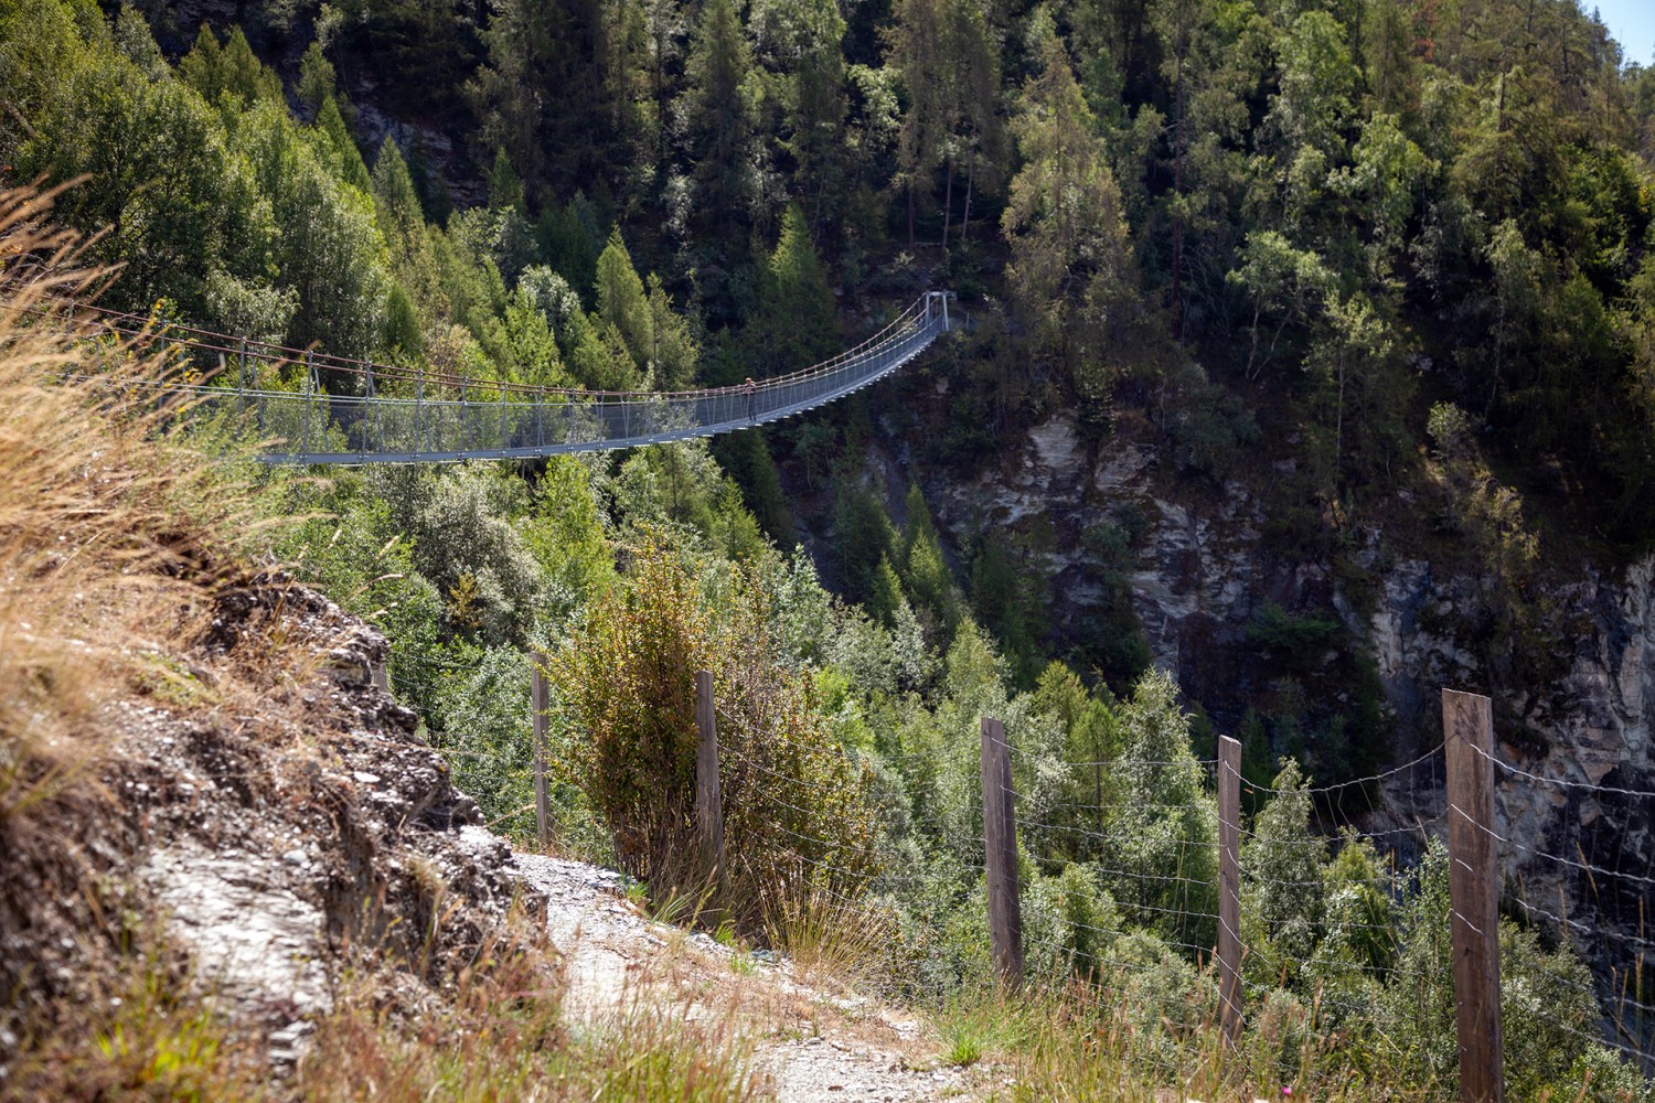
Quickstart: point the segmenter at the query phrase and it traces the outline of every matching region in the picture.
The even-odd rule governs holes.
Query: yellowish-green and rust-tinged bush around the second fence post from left
[[[695,671],[713,673],[723,787],[727,891],[760,928],[813,888],[861,891],[875,871],[867,774],[834,746],[809,671],[778,661],[770,594],[738,572],[713,607],[703,564],[659,541],[632,552],[549,673],[574,723],[571,781],[614,832],[616,857],[657,893],[703,883],[695,814]]]

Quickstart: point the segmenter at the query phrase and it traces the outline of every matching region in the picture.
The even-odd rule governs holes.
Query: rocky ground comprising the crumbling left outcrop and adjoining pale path
[[[513,853],[377,688],[386,655],[321,595],[258,577],[101,706],[109,751],[86,795],[41,817],[50,830],[0,824],[0,987],[17,994],[0,1009],[0,1098],[22,1086],[7,1083],[20,1035],[74,1032],[131,999],[134,961],[195,989],[281,1077],[341,986],[367,976],[379,1005],[419,1015],[513,910],[543,916],[563,957],[571,1030],[640,1007],[708,1019],[780,1100],[1005,1086],[1003,1068],[945,1067],[914,1014],[650,921],[619,873]]]

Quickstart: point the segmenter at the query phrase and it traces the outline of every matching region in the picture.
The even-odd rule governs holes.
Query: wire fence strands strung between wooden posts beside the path
[[[458,663],[394,670],[392,686],[430,693],[434,681],[463,670]],[[712,716],[730,729],[740,723],[717,709]],[[1279,1024],[1281,1007],[1298,1007],[1307,1029],[1332,1039],[1359,1035],[1398,1063],[1412,1062],[1438,1086],[1463,1086],[1476,1062],[1491,1060],[1494,1077],[1501,1065],[1498,1045],[1486,1058],[1480,1057],[1486,1050],[1466,1043],[1463,1017],[1455,1039],[1455,1017],[1476,996],[1460,989],[1453,962],[1463,943],[1480,939],[1491,948],[1493,969],[1511,971],[1485,1009],[1496,1042],[1506,1017],[1504,1045],[1513,1052],[1544,1035],[1581,1052],[1602,1047],[1643,1077],[1655,1075],[1648,967],[1655,933],[1647,926],[1655,875],[1638,857],[1655,822],[1655,792],[1625,779],[1597,785],[1504,761],[1491,726],[1458,764],[1450,733],[1400,766],[1331,785],[1241,782],[1223,756],[1129,752],[1054,762],[995,728],[1000,742],[985,738],[985,774],[991,749],[1008,764],[1016,761],[998,790],[1018,837],[1011,865],[1023,867],[1024,878],[1016,886],[1018,961],[1026,956],[1041,982],[1082,984],[1086,999],[1104,1002],[1097,1014],[1112,1014],[1111,999],[1135,1000],[1152,1007],[1172,1037],[1197,1037],[1218,1030],[1225,1009]],[[784,757],[753,742],[760,738],[743,731],[730,746],[715,738],[717,769],[735,785],[727,792],[750,802],[824,896],[852,911],[907,910],[922,921],[983,908],[981,900],[991,898],[985,886],[1005,862],[988,832],[995,785],[985,787],[983,804],[960,799],[960,777],[948,797],[910,794],[879,833],[852,840],[811,814],[836,795],[832,784],[796,776]],[[467,761],[463,744],[445,754],[468,769],[490,769]],[[1109,785],[1094,784],[1099,767]],[[523,772],[510,772],[521,784]],[[1134,779],[1152,787],[1192,772],[1200,781],[1188,800],[1130,789]],[[1468,772],[1486,781],[1486,802],[1465,787]],[[1251,815],[1236,814],[1233,850],[1221,830],[1225,784],[1263,800]],[[1526,824],[1519,835],[1506,822],[1511,817],[1498,814],[1501,804],[1533,802],[1554,812],[1544,832]],[[1466,837],[1486,848],[1466,847]],[[1427,885],[1432,862],[1443,878],[1435,890]],[[1082,878],[1067,876],[1074,867]],[[1466,903],[1466,885],[1486,888],[1488,911],[1475,906],[1475,896]],[[1428,898],[1432,891],[1440,896]],[[1235,911],[1225,906],[1226,895],[1235,896]],[[1299,924],[1307,914],[1309,928]],[[1437,924],[1438,933],[1422,943],[1422,924]],[[988,934],[1003,938],[993,921]],[[1235,946],[1233,991],[1223,984],[1225,936]],[[1273,1072],[1250,1065],[1259,1058],[1248,1037],[1225,1052],[1251,1083],[1266,1083]],[[1163,1067],[1167,1077],[1187,1058],[1147,1035],[1132,1045],[1142,1048],[1145,1067]]]

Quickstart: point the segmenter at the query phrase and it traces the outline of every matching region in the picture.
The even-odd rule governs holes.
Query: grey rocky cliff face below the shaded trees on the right
[[[1420,559],[1385,564],[1372,534],[1362,554],[1372,580],[1367,592],[1349,594],[1331,564],[1284,561],[1266,546],[1263,509],[1246,485],[1190,493],[1162,478],[1152,446],[1089,455],[1066,417],[1031,428],[1001,466],[923,488],[938,524],[957,539],[981,528],[1028,529],[1034,518],[1049,524],[1048,549],[1038,554],[1054,580],[1056,615],[1072,635],[1104,600],[1106,567],[1089,551],[1087,532],[1129,508],[1140,521],[1130,602],[1154,663],[1177,675],[1220,731],[1235,731],[1248,703],[1266,700],[1281,673],[1250,635],[1266,604],[1334,610],[1346,650],[1370,660],[1390,728],[1380,769],[1440,744],[1440,688],[1490,693],[1504,764],[1496,771],[1496,815],[1508,900],[1536,916],[1562,908],[1577,933],[1637,931],[1640,906],[1655,900],[1655,800],[1635,795],[1655,790],[1655,557],[1624,574],[1582,564],[1576,580],[1551,585],[1541,647],[1552,652],[1552,676],[1503,685],[1509,673],[1490,670],[1494,663],[1485,657],[1516,643],[1476,638],[1486,633],[1481,579]],[[892,489],[900,493],[895,483]],[[1337,708],[1349,698],[1339,686],[1344,666],[1332,653],[1322,665],[1334,676],[1317,691]],[[1392,776],[1385,792],[1372,827],[1440,825],[1442,756]],[[1592,876],[1585,867],[1614,875]]]

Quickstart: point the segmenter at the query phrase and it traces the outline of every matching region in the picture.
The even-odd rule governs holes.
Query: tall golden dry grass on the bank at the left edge
[[[99,701],[190,633],[220,562],[207,549],[235,547],[247,503],[132,385],[164,357],[66,316],[101,273],[48,225],[53,195],[0,192],[0,830],[13,843],[96,759]]]

